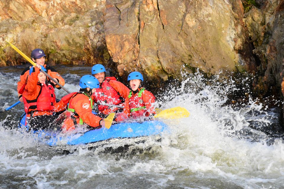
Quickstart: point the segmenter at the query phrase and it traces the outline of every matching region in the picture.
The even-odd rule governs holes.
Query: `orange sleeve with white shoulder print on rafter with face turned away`
[[[72,107],[83,122],[87,123],[91,127],[99,127],[100,120],[102,118],[94,115],[92,113],[91,104],[89,98],[84,94],[77,94],[72,98],[71,102]]]

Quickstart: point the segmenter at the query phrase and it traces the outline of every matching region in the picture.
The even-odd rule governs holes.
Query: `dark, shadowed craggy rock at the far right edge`
[[[284,1],[257,1],[245,15],[253,53],[259,58],[254,91],[260,96],[277,93],[283,83]],[[279,91],[280,92],[280,91]]]

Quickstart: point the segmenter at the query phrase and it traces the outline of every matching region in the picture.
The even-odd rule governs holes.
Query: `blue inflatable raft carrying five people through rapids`
[[[20,121],[19,127],[26,127],[26,116],[24,115]],[[159,120],[149,120],[142,123],[117,123],[109,129],[101,128],[87,131],[83,134],[74,136],[59,137],[57,133],[38,132],[38,135],[44,135],[46,144],[49,146],[57,146],[66,142],[67,145],[92,144],[99,141],[110,139],[136,138],[143,136],[154,136],[161,134],[167,129],[167,125]],[[48,137],[46,137],[48,136]],[[76,136],[78,136],[76,138]]]

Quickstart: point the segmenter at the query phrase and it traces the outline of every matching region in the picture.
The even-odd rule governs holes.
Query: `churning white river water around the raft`
[[[24,67],[0,68],[1,110],[17,102]],[[90,74],[90,66],[56,69],[71,92],[79,89],[80,76]],[[160,141],[128,139],[68,154],[13,128],[22,104],[0,113],[0,188],[284,188],[279,107],[268,108],[250,97],[238,106],[226,104],[227,94],[238,90],[235,81],[210,82],[199,73],[185,75],[181,85],[159,95],[161,108],[181,106],[191,113],[164,120],[170,132],[162,133]],[[124,146],[130,147],[109,150]]]

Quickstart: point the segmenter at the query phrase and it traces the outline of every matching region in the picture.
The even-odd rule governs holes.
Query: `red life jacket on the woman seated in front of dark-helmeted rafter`
[[[54,103],[56,102],[56,97],[54,93],[54,87],[51,84],[39,84],[41,90],[38,96],[34,100],[27,100],[23,97],[23,102],[25,106],[25,113],[30,113],[33,111],[52,111],[54,108]],[[29,110],[30,109],[30,110]]]

